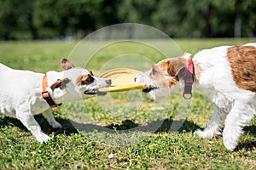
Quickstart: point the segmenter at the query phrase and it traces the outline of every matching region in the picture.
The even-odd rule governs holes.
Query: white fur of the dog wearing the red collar
[[[246,45],[256,47],[256,43]],[[242,133],[242,127],[256,115],[256,93],[236,86],[230,62],[227,59],[228,48],[230,46],[204,49],[193,58],[193,61],[201,66],[200,81],[193,84],[193,89],[205,94],[207,99],[215,105],[207,127],[195,133],[201,138],[212,139],[213,136],[221,134],[221,129],[224,127],[224,146],[228,150],[234,150]],[[184,54],[184,58],[187,59],[188,56],[189,54]],[[149,73],[145,75],[147,79],[148,75]],[[140,77],[137,82],[145,81]],[[153,84],[150,81],[146,82]],[[171,93],[183,93],[183,87],[184,81],[181,79],[177,85],[172,86]],[[154,97],[158,90],[152,90],[149,93]]]

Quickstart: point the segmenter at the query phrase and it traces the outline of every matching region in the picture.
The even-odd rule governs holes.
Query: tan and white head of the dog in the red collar
[[[148,88],[143,89],[143,92],[152,99],[157,95],[165,95],[170,89],[178,93],[187,71],[189,56],[190,54],[184,54],[177,58],[160,60],[150,71],[137,76],[137,84],[147,84]]]

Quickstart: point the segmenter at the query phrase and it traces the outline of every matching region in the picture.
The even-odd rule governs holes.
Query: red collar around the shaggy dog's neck
[[[194,82],[194,63],[192,59],[189,59],[188,70],[185,76],[185,88],[183,92],[184,99],[191,99],[192,98],[192,85]]]

